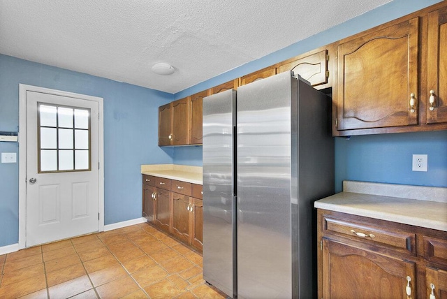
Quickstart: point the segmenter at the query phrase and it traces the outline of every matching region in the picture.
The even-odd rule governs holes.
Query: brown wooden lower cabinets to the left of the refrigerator
[[[143,175],[142,215],[154,226],[202,251],[202,185]]]

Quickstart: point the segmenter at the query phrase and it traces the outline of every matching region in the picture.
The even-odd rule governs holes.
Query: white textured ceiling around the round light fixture
[[[175,93],[389,1],[0,0],[0,53]]]

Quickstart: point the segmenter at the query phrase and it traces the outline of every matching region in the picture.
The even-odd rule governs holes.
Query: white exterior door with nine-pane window
[[[98,231],[98,102],[26,91],[25,247]]]

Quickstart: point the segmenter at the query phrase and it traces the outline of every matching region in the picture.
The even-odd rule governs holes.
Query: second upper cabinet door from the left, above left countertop
[[[173,142],[172,145],[187,145],[189,140],[189,100],[173,101]]]

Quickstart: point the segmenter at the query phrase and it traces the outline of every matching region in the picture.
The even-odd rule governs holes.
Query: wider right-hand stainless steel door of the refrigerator
[[[298,207],[291,203],[291,101],[297,90],[288,72],[237,89],[238,298],[292,297]]]

